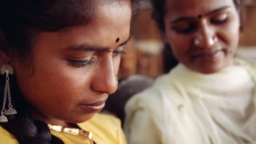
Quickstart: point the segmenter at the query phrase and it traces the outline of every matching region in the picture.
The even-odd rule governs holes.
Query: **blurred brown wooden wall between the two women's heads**
[[[154,78],[163,73],[162,46],[158,44],[161,36],[151,19],[151,13],[152,9],[140,9],[139,15],[131,23],[132,39],[125,49],[127,55],[123,55],[121,59],[120,78],[133,74]]]

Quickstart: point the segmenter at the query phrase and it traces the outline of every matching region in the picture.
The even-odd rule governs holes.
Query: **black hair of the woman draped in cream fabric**
[[[243,0],[232,0],[235,4],[235,7],[240,16],[240,30],[243,30]],[[152,18],[155,20],[156,25],[158,26],[160,32],[162,34],[165,33],[165,23],[164,16],[166,14],[166,0],[151,0],[153,5]],[[172,53],[171,46],[169,44],[165,44],[164,51],[162,52],[163,62],[164,62],[164,72],[167,73],[170,71],[175,65],[177,65],[178,61],[174,57]]]

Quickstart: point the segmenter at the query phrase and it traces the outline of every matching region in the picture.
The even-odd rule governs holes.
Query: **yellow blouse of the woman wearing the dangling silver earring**
[[[114,116],[97,113],[89,121],[78,123],[78,127],[82,130],[92,133],[92,140],[97,144],[126,144],[126,139],[121,129],[121,122]],[[89,137],[83,135],[73,135],[51,130],[51,134],[59,137],[64,143],[68,144],[91,144]],[[3,143],[18,143],[14,137],[5,129],[0,127],[0,140]]]

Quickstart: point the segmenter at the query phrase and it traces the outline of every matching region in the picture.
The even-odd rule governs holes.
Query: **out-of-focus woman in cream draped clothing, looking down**
[[[153,1],[154,19],[179,64],[126,105],[129,143],[256,140],[254,65],[234,58],[241,2]]]

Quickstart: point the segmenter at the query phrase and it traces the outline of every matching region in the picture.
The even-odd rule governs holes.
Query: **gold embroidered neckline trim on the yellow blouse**
[[[48,127],[50,130],[67,133],[67,134],[71,134],[71,135],[81,135],[81,136],[85,136],[85,137],[89,138],[90,140],[92,140],[92,133],[90,131],[85,131],[85,130],[78,129],[78,128],[67,128],[62,125],[52,125],[52,124],[48,124]]]

